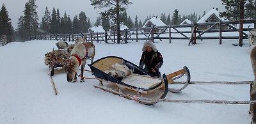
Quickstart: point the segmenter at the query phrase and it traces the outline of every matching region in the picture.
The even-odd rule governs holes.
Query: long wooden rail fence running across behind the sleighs
[[[237,21],[227,21],[227,22],[207,22],[207,23],[194,23],[194,24],[183,24],[183,25],[170,25],[170,26],[152,26],[152,27],[140,27],[131,28],[121,31],[120,39],[122,43],[127,43],[127,40],[152,40],[155,39],[169,39],[171,43],[173,39],[177,40],[188,40],[189,45],[195,44],[196,40],[204,39],[219,39],[220,44],[222,39],[239,39],[239,36],[225,36],[223,33],[227,32],[239,32],[236,28]],[[256,27],[256,20],[244,20],[244,24],[253,24]],[[184,31],[184,29],[186,29]],[[248,38],[248,35],[244,31],[250,31],[252,27],[244,27],[243,38]],[[205,36],[207,33],[218,33],[218,36]],[[164,35],[168,34],[168,36]],[[177,36],[179,34],[179,36]],[[175,36],[176,35],[176,36]],[[106,31],[104,33],[80,33],[72,35],[37,35],[31,36],[32,40],[65,40],[73,41],[76,38],[86,38],[88,42],[102,42],[105,43],[115,43],[116,42],[116,31]]]

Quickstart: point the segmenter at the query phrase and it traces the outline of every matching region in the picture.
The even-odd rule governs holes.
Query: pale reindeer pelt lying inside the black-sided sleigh
[[[120,65],[119,63],[115,63],[108,70],[104,71],[106,74],[111,75],[112,77],[127,77],[132,75],[132,70],[130,70],[126,65]]]

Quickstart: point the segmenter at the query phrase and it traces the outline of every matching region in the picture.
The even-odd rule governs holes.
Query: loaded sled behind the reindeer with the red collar
[[[45,65],[49,66],[51,70],[51,76],[54,75],[54,68],[62,68],[65,62],[69,58],[69,53],[65,50],[52,50],[45,54]]]

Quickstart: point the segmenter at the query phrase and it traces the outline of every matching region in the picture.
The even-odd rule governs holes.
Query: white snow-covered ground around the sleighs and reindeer
[[[163,54],[162,74],[188,66],[191,81],[252,81],[253,72],[244,47],[237,40],[203,40],[188,46],[188,40],[156,40]],[[250,123],[249,105],[182,104],[160,102],[147,106],[93,88],[97,80],[69,83],[56,71],[58,92],[54,95],[44,54],[56,41],[37,40],[9,43],[0,47],[0,123]],[[143,41],[127,44],[95,43],[95,60],[120,56],[138,65]],[[89,61],[88,61],[89,62]],[[86,69],[89,69],[86,66]],[[85,72],[86,77],[93,77]],[[172,85],[170,85],[171,87]],[[190,85],[182,93],[168,93],[168,99],[250,100],[249,85]]]

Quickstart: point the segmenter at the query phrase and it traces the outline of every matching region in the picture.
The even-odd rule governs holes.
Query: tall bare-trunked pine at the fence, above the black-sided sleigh
[[[111,26],[116,27],[117,30],[117,43],[120,42],[120,15],[121,13],[126,12],[125,6],[132,4],[129,0],[111,0],[111,1],[102,1],[102,0],[90,0],[91,5],[95,8],[108,8],[104,12],[100,12],[100,15],[104,17],[109,17],[111,20]]]

